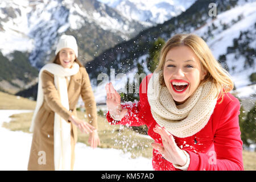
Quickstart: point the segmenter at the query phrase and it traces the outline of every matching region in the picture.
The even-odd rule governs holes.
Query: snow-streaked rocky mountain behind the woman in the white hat
[[[91,60],[98,52],[145,28],[96,0],[3,0],[0,20],[3,55],[14,50],[31,52],[30,62],[38,68],[49,61],[57,38],[64,32],[79,40],[80,60],[85,63],[85,59]],[[108,39],[108,43],[101,39]]]

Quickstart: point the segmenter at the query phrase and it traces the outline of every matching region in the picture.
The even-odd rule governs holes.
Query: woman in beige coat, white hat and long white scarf
[[[43,69],[43,67],[42,73],[39,73],[38,110],[35,110],[31,124],[33,138],[28,170],[73,170],[77,127],[82,132],[90,133],[89,142],[93,148],[100,144],[97,134],[96,102],[88,73],[77,60],[75,38],[69,35],[61,36],[55,54],[56,57],[53,63],[47,65],[49,69]],[[76,70],[75,67],[77,67]],[[56,81],[57,73],[55,74],[55,72],[57,72],[57,69],[63,72],[75,70],[75,72],[69,74],[70,76],[63,77],[64,84],[63,82],[61,84],[67,84],[66,88],[61,88],[61,81]],[[57,83],[59,83],[59,88]],[[42,93],[39,92],[40,89],[42,89]],[[66,93],[67,97],[63,97],[63,93]],[[39,104],[40,94],[42,95],[41,104]],[[76,104],[80,95],[85,104],[89,123],[77,118]],[[67,103],[66,106],[63,104],[64,101]],[[58,116],[60,116],[60,120],[56,121]],[[57,122],[60,123],[59,128]],[[68,132],[64,135],[64,131],[67,131],[67,129]],[[63,143],[58,143],[57,133],[62,136],[58,136],[58,138],[60,141],[64,141]],[[68,150],[63,150],[61,147],[56,148],[57,146],[68,146]]]

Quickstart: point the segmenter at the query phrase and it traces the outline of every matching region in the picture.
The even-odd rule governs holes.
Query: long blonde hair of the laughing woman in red
[[[207,43],[195,34],[176,34],[172,36],[160,51],[159,64],[154,73],[163,71],[168,51],[177,46],[188,46],[193,52],[195,52],[197,57],[199,57],[201,68],[207,71],[207,75],[204,77],[204,80],[200,82],[199,86],[203,85],[207,81],[213,82],[211,92],[216,93],[214,98],[217,98],[218,94],[221,93],[220,97],[222,98],[222,102],[224,94],[233,90],[234,83],[228,71],[222,68],[221,64],[214,59]],[[161,85],[166,86],[163,76],[160,78],[160,83]]]

